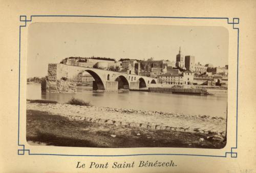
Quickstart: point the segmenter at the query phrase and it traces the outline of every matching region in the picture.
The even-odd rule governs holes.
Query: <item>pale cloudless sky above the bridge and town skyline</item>
[[[67,57],[107,57],[228,64],[228,31],[223,27],[95,23],[32,23],[28,34],[28,78],[45,77],[48,63]]]

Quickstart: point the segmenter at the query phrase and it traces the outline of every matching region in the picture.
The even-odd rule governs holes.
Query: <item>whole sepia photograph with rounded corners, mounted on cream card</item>
[[[226,145],[228,30],[46,23],[28,29],[30,145]]]

